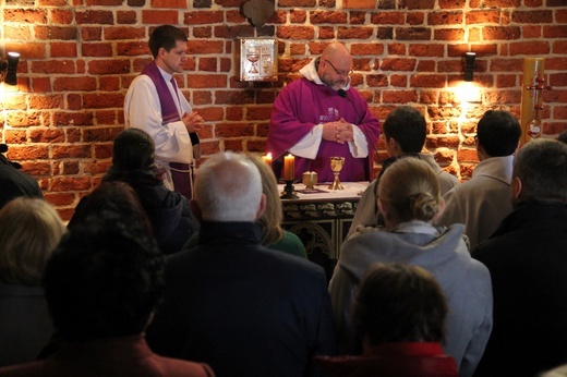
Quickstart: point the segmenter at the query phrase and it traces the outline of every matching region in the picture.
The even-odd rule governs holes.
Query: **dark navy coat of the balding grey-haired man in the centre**
[[[260,245],[252,222],[203,222],[198,246],[168,257],[150,348],[209,364],[219,376],[313,375],[335,354],[324,270]]]

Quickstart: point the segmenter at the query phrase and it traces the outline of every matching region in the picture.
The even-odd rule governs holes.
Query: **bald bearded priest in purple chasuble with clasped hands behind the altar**
[[[300,70],[303,77],[276,98],[266,151],[280,177],[282,156],[295,156],[295,179],[316,171],[319,182],[334,180],[329,157],[345,157],[342,182],[371,179],[379,121],[350,86],[352,57],[345,45],[329,44],[321,57]],[[279,160],[279,161],[278,161]]]

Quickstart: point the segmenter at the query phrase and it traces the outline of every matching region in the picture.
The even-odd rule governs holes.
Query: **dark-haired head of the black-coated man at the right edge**
[[[567,204],[567,144],[540,138],[521,147],[514,161],[515,188],[521,202]]]

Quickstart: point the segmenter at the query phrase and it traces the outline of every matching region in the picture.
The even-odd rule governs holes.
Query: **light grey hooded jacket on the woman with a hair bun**
[[[462,224],[434,228],[413,221],[397,232],[371,228],[347,240],[329,285],[341,351],[357,350],[350,305],[369,266],[418,265],[437,279],[447,299],[445,352],[459,364],[460,376],[471,376],[492,331],[492,284],[487,268],[471,258],[462,232]]]

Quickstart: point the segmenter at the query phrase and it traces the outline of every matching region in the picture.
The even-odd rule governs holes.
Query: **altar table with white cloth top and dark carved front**
[[[297,199],[281,199],[284,229],[297,234],[305,245],[310,260],[321,265],[327,279],[339,258],[340,245],[347,235],[354,210],[369,182],[342,182],[345,190],[329,190],[319,183],[317,192],[307,193],[303,183],[295,183]],[[279,184],[280,192],[284,184]]]

